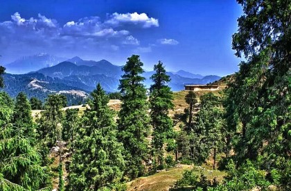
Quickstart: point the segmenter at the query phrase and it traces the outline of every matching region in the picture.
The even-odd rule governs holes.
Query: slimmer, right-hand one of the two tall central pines
[[[150,117],[153,128],[152,147],[155,157],[158,158],[160,167],[164,162],[164,144],[169,138],[173,138],[173,121],[168,116],[168,111],[173,109],[173,92],[167,83],[170,76],[166,74],[163,63],[159,61],[154,67],[155,74],[151,76],[153,85],[150,86]]]

